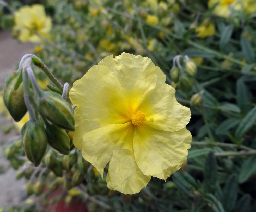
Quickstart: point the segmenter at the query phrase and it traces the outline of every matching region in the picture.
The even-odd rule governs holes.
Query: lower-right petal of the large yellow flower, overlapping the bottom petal
[[[186,128],[168,132],[146,125],[137,126],[133,149],[139,169],[145,175],[166,179],[186,161],[191,140]]]

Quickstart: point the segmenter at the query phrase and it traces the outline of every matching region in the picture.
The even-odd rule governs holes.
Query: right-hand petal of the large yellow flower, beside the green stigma
[[[154,90],[138,108],[145,113],[146,119],[154,122],[145,124],[165,131],[178,131],[188,124],[191,116],[190,109],[177,102],[175,89],[165,82],[165,75],[157,67],[157,85]]]

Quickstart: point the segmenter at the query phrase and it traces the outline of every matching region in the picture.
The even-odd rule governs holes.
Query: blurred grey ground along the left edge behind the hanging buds
[[[11,33],[0,31],[0,89],[4,87],[5,79],[15,71],[17,64],[24,54],[30,53],[32,44],[19,43],[12,38]],[[16,180],[16,171],[9,168],[9,161],[3,156],[3,148],[8,145],[10,139],[19,134],[15,130],[5,134],[3,129],[12,124],[0,115],[0,169],[6,171],[0,174],[0,207],[9,204],[19,204],[25,197],[24,179]]]

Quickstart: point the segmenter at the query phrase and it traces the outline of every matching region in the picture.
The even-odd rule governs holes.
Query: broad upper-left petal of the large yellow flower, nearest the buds
[[[80,80],[74,82],[69,97],[78,107],[74,114],[76,130],[73,137],[78,149],[82,148],[81,138],[86,132],[130,121],[123,89],[118,78],[106,66],[90,68]]]

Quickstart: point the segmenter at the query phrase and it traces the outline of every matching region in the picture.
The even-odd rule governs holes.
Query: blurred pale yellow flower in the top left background
[[[40,36],[47,37],[52,27],[51,18],[46,17],[43,5],[21,7],[14,15],[14,32],[22,42],[39,42]]]

